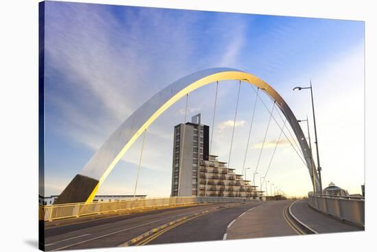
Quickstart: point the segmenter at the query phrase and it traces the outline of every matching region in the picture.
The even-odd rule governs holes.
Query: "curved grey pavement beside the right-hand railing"
[[[363,227],[349,225],[341,220],[336,220],[326,214],[317,212],[309,207],[307,199],[295,202],[291,207],[291,212],[302,223],[317,231],[318,234],[363,230]]]

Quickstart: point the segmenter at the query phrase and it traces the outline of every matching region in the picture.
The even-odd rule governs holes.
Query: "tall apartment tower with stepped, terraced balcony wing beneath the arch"
[[[260,197],[256,186],[210,155],[208,149],[209,127],[200,123],[200,114],[193,116],[191,123],[174,127],[172,197]]]

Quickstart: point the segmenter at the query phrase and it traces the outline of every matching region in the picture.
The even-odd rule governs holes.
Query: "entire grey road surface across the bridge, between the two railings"
[[[187,218],[162,229],[156,229],[147,238],[132,240],[132,244],[293,236],[300,234],[300,230],[295,229],[295,224],[289,221],[291,217],[287,216],[287,207],[292,203],[294,203],[293,214],[302,223],[315,228],[318,233],[360,230],[315,212],[307,206],[306,201],[215,203],[48,223],[45,229],[45,250],[117,247],[151,229],[182,217]],[[204,213],[204,211],[209,212]],[[193,214],[199,215],[193,216]],[[56,224],[58,226],[55,226]]]

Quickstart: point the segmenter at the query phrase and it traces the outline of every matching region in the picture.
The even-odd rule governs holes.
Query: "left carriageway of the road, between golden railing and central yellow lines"
[[[143,234],[145,231],[182,218],[183,216],[233,205],[239,204],[216,203],[197,205],[193,207],[158,210],[145,214],[111,216],[111,218],[87,220],[77,224],[51,226],[45,229],[45,250],[117,247],[123,242]],[[228,209],[221,208],[221,211],[223,210]]]

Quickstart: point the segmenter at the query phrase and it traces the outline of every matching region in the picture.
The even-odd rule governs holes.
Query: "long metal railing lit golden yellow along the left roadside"
[[[251,199],[232,197],[169,197],[151,199],[128,199],[113,202],[71,203],[60,205],[39,205],[39,220],[51,221],[90,214],[138,210],[146,207],[187,205],[193,203],[241,203]]]

